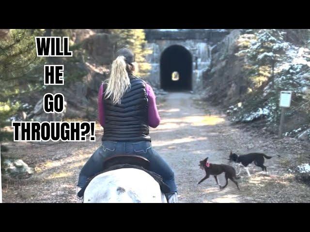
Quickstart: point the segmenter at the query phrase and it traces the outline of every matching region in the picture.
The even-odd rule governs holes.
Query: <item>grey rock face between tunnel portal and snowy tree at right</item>
[[[240,100],[247,90],[243,75],[243,58],[235,55],[240,30],[231,31],[211,51],[211,65],[203,75],[206,97],[225,106]]]

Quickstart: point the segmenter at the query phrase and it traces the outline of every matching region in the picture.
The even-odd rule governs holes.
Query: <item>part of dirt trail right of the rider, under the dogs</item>
[[[197,185],[204,176],[199,160],[209,157],[211,163],[228,164],[230,150],[237,154],[263,152],[288,157],[293,147],[281,147],[254,131],[232,126],[215,107],[198,101],[190,93],[170,93],[159,106],[161,124],[151,130],[152,144],[172,166],[178,185],[180,203],[251,203],[251,202],[310,202],[309,188],[283,176],[281,160],[266,160],[268,174],[249,165],[251,177],[242,169],[237,190],[229,181],[220,190],[213,176]],[[233,165],[233,164],[232,164]],[[237,172],[239,166],[233,165]],[[224,174],[218,176],[225,184]]]

